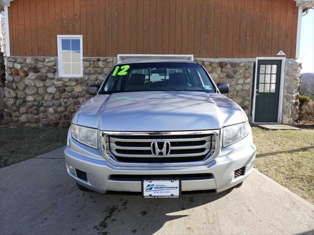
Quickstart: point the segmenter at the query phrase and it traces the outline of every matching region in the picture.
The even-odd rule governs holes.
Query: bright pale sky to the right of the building
[[[300,57],[302,73],[314,72],[314,9],[302,16]]]

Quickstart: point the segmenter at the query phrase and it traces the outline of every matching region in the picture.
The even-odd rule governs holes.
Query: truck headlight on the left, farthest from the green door
[[[71,124],[71,135],[73,139],[86,144],[92,148],[98,148],[97,130]]]

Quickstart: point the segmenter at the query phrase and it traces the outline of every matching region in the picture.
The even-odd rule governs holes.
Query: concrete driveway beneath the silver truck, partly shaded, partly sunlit
[[[314,205],[257,170],[180,199],[81,192],[63,149],[0,169],[0,234],[314,234]]]

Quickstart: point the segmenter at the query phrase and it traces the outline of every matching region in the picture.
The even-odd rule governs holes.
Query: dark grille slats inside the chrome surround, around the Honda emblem
[[[184,163],[204,161],[215,149],[213,134],[109,135],[110,155],[125,163]],[[156,156],[152,142],[170,142],[170,152]],[[158,146],[160,147],[160,144]],[[155,155],[153,154],[155,153]]]

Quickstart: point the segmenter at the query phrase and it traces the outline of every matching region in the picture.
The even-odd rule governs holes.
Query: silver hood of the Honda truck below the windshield
[[[161,91],[96,95],[72,122],[104,131],[194,131],[246,120],[243,110],[222,94]]]

